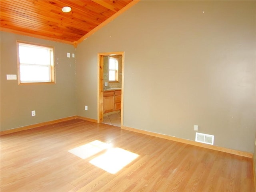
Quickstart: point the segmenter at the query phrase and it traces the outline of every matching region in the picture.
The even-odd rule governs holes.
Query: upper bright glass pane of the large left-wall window
[[[50,48],[19,44],[20,63],[50,65]]]

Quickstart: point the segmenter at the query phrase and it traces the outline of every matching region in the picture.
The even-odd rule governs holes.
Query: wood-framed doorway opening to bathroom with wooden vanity
[[[106,82],[106,74],[104,73],[104,60],[106,58],[119,58],[121,59],[121,68],[122,70],[118,71],[118,74],[121,74],[122,77],[119,80],[109,80]],[[111,71],[108,69],[108,75]],[[113,78],[113,77],[112,77]],[[121,81],[121,83],[120,83]],[[114,88],[114,84],[121,84],[120,88]],[[111,86],[110,86],[111,85]],[[105,96],[105,97],[104,97]],[[120,118],[120,127],[123,128],[123,99],[124,98],[124,52],[106,52],[98,53],[98,123],[102,123],[104,116],[114,114],[114,116],[121,116]],[[120,100],[120,103],[118,102]],[[104,101],[111,101],[104,104]],[[118,103],[116,103],[118,102]],[[110,107],[106,110],[106,106]],[[113,110],[111,108],[113,107]],[[110,112],[113,111],[113,112]],[[106,113],[108,112],[108,113]],[[113,116],[112,116],[113,117]],[[111,116],[109,117],[111,118]],[[105,118],[106,119],[106,118]]]

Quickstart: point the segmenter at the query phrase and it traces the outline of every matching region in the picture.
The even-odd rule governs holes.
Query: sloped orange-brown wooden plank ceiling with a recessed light
[[[1,0],[1,31],[78,44],[133,0]],[[62,8],[70,6],[71,12]]]

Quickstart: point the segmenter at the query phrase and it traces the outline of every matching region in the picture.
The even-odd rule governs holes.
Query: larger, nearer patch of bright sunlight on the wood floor
[[[111,174],[115,174],[138,156],[138,154],[121,148],[110,148],[106,153],[90,160],[90,163]]]

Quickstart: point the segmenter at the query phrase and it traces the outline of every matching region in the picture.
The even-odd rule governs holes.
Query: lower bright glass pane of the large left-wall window
[[[20,81],[50,82],[50,67],[20,65]]]

